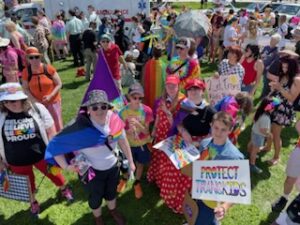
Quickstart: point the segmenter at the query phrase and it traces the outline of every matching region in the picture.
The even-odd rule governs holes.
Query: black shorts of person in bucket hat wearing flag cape
[[[98,209],[103,198],[107,201],[114,200],[117,196],[120,170],[117,165],[108,170],[95,170],[95,177],[89,183],[84,184],[88,192],[88,203],[91,209]]]

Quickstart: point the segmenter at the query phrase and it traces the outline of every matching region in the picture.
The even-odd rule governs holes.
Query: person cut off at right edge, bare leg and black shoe
[[[300,136],[300,120],[298,120],[296,123],[296,130],[298,132],[298,135]],[[297,179],[300,178],[299,162],[300,162],[300,138],[298,139],[298,143],[296,144],[294,151],[291,152],[286,166],[286,179],[284,182],[283,195],[280,196],[280,198],[278,198],[272,204],[272,211],[281,212],[286,206],[289,199],[289,195],[292,192]]]

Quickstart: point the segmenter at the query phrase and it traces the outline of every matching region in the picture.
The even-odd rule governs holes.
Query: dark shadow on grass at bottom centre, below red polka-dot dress
[[[131,184],[128,186],[132,186]],[[158,189],[144,180],[142,182],[144,196],[137,200],[134,196],[133,188],[117,198],[117,208],[124,215],[128,225],[139,224],[182,224],[183,216],[170,213],[159,197]],[[107,225],[114,225],[106,206],[102,208],[103,220]],[[88,225],[93,224],[94,218],[92,213],[83,215],[72,225]]]

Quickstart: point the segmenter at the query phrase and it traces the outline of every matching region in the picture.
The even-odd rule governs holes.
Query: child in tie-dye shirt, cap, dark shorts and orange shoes
[[[125,122],[126,135],[137,168],[134,182],[134,192],[137,199],[143,196],[140,180],[144,165],[150,161],[147,143],[151,142],[149,124],[153,121],[151,108],[141,103],[143,97],[143,87],[139,83],[134,83],[128,90],[129,103],[120,111],[120,117]],[[128,174],[121,179],[118,186],[119,192],[124,190],[127,178]]]

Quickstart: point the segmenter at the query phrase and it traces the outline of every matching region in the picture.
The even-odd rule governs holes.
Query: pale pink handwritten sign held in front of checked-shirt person
[[[205,78],[208,100],[211,105],[217,104],[227,95],[236,95],[241,91],[241,81],[238,75]]]

